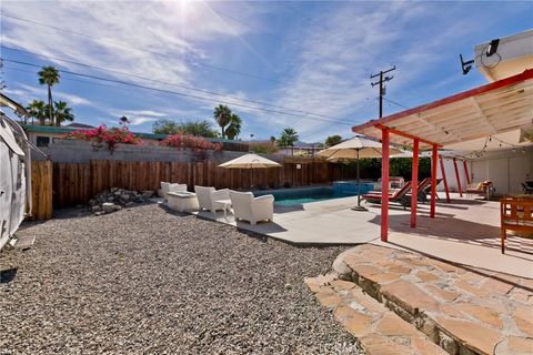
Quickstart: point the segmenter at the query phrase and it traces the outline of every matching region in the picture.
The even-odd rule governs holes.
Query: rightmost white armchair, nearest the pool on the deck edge
[[[230,191],[231,205],[235,220],[249,221],[257,224],[259,221],[273,221],[274,196],[264,195],[254,197],[251,192]]]

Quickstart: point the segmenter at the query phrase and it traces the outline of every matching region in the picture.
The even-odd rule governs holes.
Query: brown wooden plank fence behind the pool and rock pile
[[[161,181],[215,186],[217,189],[248,189],[252,171],[223,169],[219,162],[132,162],[98,160],[89,163],[52,163],[32,161],[32,220],[52,217],[54,207],[87,204],[104,190],[123,187],[137,191],[158,190]],[[320,160],[286,159],[281,168],[253,170],[255,186],[282,187],[329,183],[346,179],[338,165]]]

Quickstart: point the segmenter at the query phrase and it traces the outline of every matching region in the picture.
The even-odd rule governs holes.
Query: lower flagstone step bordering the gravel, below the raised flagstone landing
[[[325,275],[306,278],[319,302],[331,308],[338,322],[358,338],[368,355],[445,355],[412,324],[405,322],[355,283]]]

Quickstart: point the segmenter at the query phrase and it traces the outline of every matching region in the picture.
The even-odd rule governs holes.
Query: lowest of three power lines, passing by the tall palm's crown
[[[11,63],[22,64],[22,65],[28,65],[28,67],[34,67],[34,68],[41,68],[41,65],[33,64],[33,63],[28,63],[28,62],[23,62],[23,61],[11,60],[11,59],[3,59],[3,60],[7,61],[7,62],[11,62]],[[148,85],[142,85],[142,84],[135,84],[135,83],[128,82],[128,81],[122,81],[122,80],[115,80],[115,79],[102,78],[102,77],[97,77],[97,75],[91,75],[91,74],[78,73],[78,72],[68,71],[68,70],[59,70],[59,71],[62,72],[62,73],[66,73],[66,74],[70,74],[70,75],[89,78],[89,79],[94,79],[94,80],[100,80],[100,81],[105,81],[105,82],[113,82],[113,83],[119,83],[119,84],[122,84],[122,85],[140,88],[140,89],[145,89],[145,90],[151,90],[151,91],[157,91],[157,92],[162,92],[162,93],[174,94],[174,95],[179,95],[179,97],[185,97],[185,98],[191,98],[191,99],[212,102],[212,99],[200,97],[200,95],[188,94],[188,93],[183,93],[183,92],[178,92],[178,91],[172,91],[172,90],[167,90],[167,89],[159,89],[159,88],[153,88],[153,87],[148,87]],[[295,116],[295,118],[301,118],[302,116],[301,114],[295,114],[295,113],[291,113],[291,112],[263,109],[263,108],[251,106],[251,105],[245,105],[245,104],[240,104],[240,103],[234,103],[234,102],[220,101],[219,103],[224,103],[224,104],[230,104],[230,105],[234,105],[234,106],[240,106],[240,108],[245,108],[245,109],[251,109],[251,110],[257,110],[257,111],[263,111],[263,112],[269,112],[269,113],[279,113],[279,114],[284,114],[284,115],[290,115],[290,116]],[[305,115],[305,114],[303,114],[303,115]],[[308,118],[308,119],[309,120],[334,122],[334,123],[339,123],[339,124],[351,125],[351,123],[349,123],[349,122],[340,122],[339,120],[328,120],[328,119],[321,119],[321,118]]]

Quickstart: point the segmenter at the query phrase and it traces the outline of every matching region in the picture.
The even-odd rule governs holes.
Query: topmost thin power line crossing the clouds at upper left
[[[125,43],[122,43],[122,42],[119,42],[119,41],[113,41],[112,39],[99,38],[99,37],[90,36],[90,34],[86,34],[86,33],[80,33],[80,32],[77,32],[77,31],[68,30],[68,29],[62,29],[62,28],[59,28],[59,27],[56,27],[56,26],[50,26],[50,24],[47,24],[47,23],[23,19],[23,18],[20,18],[20,17],[13,16],[13,14],[6,13],[3,11],[0,11],[0,16],[11,18],[11,19],[14,19],[14,20],[18,20],[18,21],[27,22],[27,23],[41,26],[41,27],[49,28],[49,29],[52,29],[52,30],[56,30],[56,31],[62,31],[62,32],[67,32],[67,33],[70,33],[70,34],[76,34],[76,36],[89,38],[89,39],[92,39],[92,40],[95,40],[95,41],[113,43],[113,44],[117,44],[117,45],[120,45],[120,47],[133,49],[135,51],[143,51],[143,52],[148,52],[148,53],[151,53],[151,54],[154,54],[154,55],[163,55],[162,53],[159,53],[159,52],[135,48],[133,45],[129,45],[129,44],[125,44]],[[199,62],[199,61],[192,61],[192,60],[185,59],[185,58],[182,58],[182,60],[188,62],[188,63],[191,63],[193,65],[200,65],[200,67],[205,67],[205,68],[210,68],[210,69],[214,69],[214,70],[219,70],[219,71],[224,71],[224,72],[228,72],[228,73],[231,73],[231,74],[237,74],[237,75],[242,75],[242,77],[248,77],[248,78],[253,78],[253,79],[260,79],[260,80],[265,80],[265,81],[271,81],[271,82],[278,82],[278,83],[280,82],[279,80],[275,80],[275,79],[265,78],[265,77],[251,74],[251,73],[245,73],[245,72],[241,72],[241,71],[237,71],[237,70],[232,70],[232,69],[227,69],[227,68],[222,68],[222,67],[217,67],[217,65],[212,65],[212,64],[207,64],[207,63],[202,63],[202,62]]]

